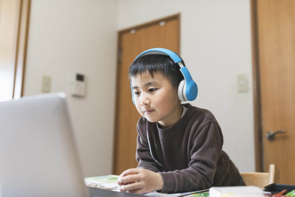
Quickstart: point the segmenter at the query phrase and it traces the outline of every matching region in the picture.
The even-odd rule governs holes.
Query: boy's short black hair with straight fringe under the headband
[[[184,62],[181,62],[185,66]],[[131,77],[145,72],[149,72],[153,77],[153,73],[159,72],[170,81],[173,88],[177,88],[181,80],[184,79],[179,69],[179,65],[174,63],[169,56],[149,54],[140,56],[132,62],[129,66],[128,77],[131,79]]]

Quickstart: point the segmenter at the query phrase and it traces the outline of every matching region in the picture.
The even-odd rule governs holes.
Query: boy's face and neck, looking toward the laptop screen
[[[168,128],[181,118],[177,90],[160,73],[155,72],[153,77],[148,72],[138,74],[131,82],[136,109],[148,121]]]

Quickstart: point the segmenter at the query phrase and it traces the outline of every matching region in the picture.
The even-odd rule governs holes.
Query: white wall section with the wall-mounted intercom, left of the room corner
[[[116,9],[114,0],[31,3],[24,96],[42,93],[42,75],[67,94],[85,177],[112,172]],[[71,72],[86,76],[85,98],[70,96]]]

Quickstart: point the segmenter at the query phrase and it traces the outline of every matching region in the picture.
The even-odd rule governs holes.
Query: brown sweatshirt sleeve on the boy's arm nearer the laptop
[[[140,122],[140,121],[139,121]],[[140,130],[137,124],[137,148],[136,160],[138,162],[137,168],[149,169],[153,172],[163,171],[162,167],[155,163],[150,154],[150,147],[148,145],[146,131]]]

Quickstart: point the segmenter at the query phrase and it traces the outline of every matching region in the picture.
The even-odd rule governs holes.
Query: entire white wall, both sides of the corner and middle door
[[[85,177],[112,172],[117,31],[181,13],[181,56],[240,171],[254,171],[249,0],[32,0],[24,95],[68,95]],[[86,76],[86,97],[69,95],[71,72]],[[237,92],[247,74],[249,91]],[[245,159],[247,158],[247,159]]]

